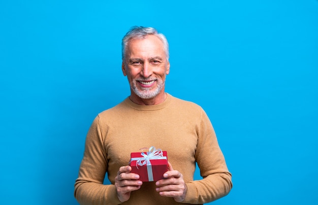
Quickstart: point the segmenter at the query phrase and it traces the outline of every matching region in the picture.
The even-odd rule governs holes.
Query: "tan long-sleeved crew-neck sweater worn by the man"
[[[131,152],[151,146],[167,151],[173,168],[182,173],[187,187],[183,203],[210,202],[231,190],[231,174],[206,113],[168,94],[164,103],[154,106],[137,105],[126,98],[96,117],[75,183],[79,203],[120,204],[114,186],[119,167],[128,165]],[[196,162],[203,179],[194,181]],[[103,185],[106,173],[111,185]],[[154,183],[144,182],[122,204],[179,204],[160,196]]]

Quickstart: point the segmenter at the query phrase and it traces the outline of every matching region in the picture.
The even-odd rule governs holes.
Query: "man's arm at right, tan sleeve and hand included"
[[[184,183],[183,176],[169,163],[166,179],[156,182],[156,191],[162,196],[173,197],[177,202],[207,203],[229,193],[232,188],[231,174],[219,149],[212,125],[202,111],[198,128],[196,160],[203,180]]]

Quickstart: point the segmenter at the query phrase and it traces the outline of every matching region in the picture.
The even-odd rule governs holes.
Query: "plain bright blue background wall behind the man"
[[[234,187],[213,204],[316,204],[318,1],[1,1],[0,25],[1,204],[77,204],[133,25],[166,35],[166,91],[214,125]]]

